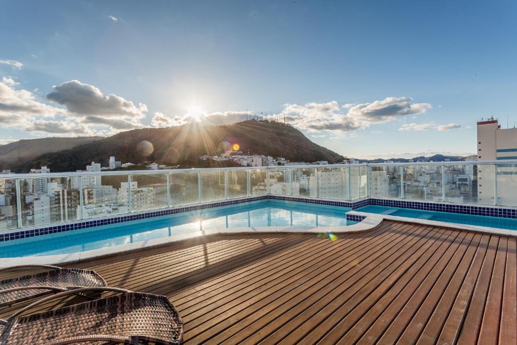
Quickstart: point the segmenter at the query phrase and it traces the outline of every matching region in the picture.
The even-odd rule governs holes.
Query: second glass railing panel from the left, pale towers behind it
[[[20,179],[22,226],[79,219],[79,177]]]

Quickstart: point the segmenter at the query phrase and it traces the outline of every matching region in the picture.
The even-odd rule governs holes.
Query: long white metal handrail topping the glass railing
[[[460,160],[443,162],[398,162],[398,163],[358,163],[358,164],[289,164],[285,166],[262,167],[226,167],[226,168],[191,168],[191,169],[159,169],[159,170],[116,170],[116,171],[77,171],[58,173],[23,173],[0,174],[0,179],[13,178],[38,178],[38,177],[69,177],[69,176],[96,176],[96,175],[126,175],[126,174],[153,174],[175,173],[189,171],[214,171],[214,170],[248,170],[248,169],[278,169],[278,168],[339,168],[339,167],[379,167],[379,166],[433,166],[433,165],[479,165],[479,164],[517,164],[517,159],[508,160]]]

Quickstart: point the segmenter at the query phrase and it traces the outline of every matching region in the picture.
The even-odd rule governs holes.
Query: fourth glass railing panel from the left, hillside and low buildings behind
[[[127,191],[128,183],[120,188]],[[131,175],[131,212],[167,207],[167,174]]]

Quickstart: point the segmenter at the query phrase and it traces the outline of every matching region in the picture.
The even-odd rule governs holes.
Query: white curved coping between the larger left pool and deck
[[[0,268],[23,264],[70,264],[93,258],[111,256],[131,250],[150,248],[168,243],[185,241],[187,239],[209,236],[209,235],[232,235],[232,234],[258,234],[258,233],[355,233],[374,229],[383,221],[383,217],[377,214],[370,214],[362,221],[349,226],[332,227],[242,227],[242,228],[215,228],[211,230],[199,230],[185,234],[178,234],[168,237],[148,239],[146,241],[116,245],[113,247],[92,249],[83,252],[69,254],[56,254],[48,256],[29,256],[15,258],[0,258]]]

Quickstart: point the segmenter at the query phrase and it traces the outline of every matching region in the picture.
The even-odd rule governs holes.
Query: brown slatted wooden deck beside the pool
[[[187,344],[506,345],[516,259],[515,237],[385,221],[335,241],[217,235],[74,266],[168,296]]]

